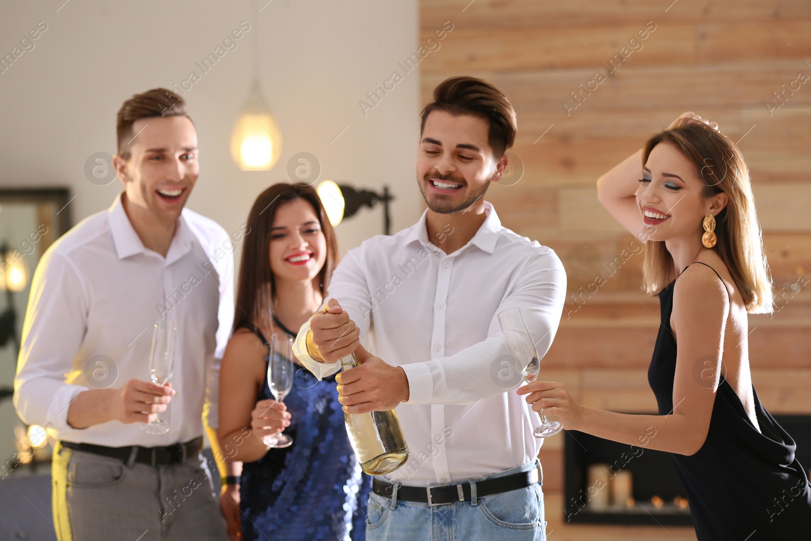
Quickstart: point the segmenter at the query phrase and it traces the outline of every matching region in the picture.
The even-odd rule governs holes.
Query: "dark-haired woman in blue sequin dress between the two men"
[[[346,435],[334,376],[318,381],[297,367],[284,404],[267,381],[270,335],[295,337],[322,303],[337,264],[333,228],[311,187],[275,184],[255,201],[244,238],[220,372],[219,440],[239,481],[221,494],[230,538],[363,541],[371,479]],[[290,447],[264,444],[282,431]]]

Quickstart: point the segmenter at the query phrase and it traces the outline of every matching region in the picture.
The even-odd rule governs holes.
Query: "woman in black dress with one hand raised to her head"
[[[747,314],[770,312],[772,294],[739,150],[685,113],[597,186],[646,242],[644,289],[662,307],[648,370],[659,415],[581,406],[557,382],[518,393],[567,429],[672,453],[700,541],[811,539],[808,474],[749,372]]]

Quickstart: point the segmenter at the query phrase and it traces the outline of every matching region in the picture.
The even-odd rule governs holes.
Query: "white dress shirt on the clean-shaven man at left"
[[[135,233],[119,195],[106,211],[75,225],[43,255],[31,284],[14,401],[25,423],[58,431],[60,440],[155,447],[192,440],[217,427],[220,359],[234,320],[233,244],[225,230],[182,210],[166,256]],[[172,397],[164,436],[143,423],[67,424],[79,393],[149,381],[157,320],[178,325]],[[101,363],[101,364],[100,364]]]

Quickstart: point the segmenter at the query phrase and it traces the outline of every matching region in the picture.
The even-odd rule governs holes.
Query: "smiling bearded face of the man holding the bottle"
[[[417,153],[417,182],[435,213],[458,213],[483,205],[490,182],[504,172],[506,157],[487,144],[487,121],[434,110],[428,115]]]

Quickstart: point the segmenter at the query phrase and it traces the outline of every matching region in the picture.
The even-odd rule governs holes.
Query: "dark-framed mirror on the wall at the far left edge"
[[[67,188],[0,190],[0,464],[36,462],[11,396],[31,278],[45,250],[71,227],[70,201]]]

